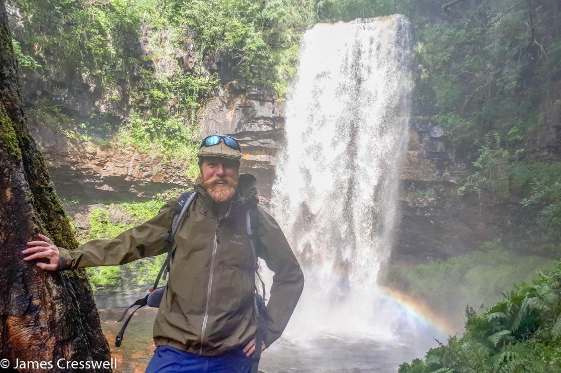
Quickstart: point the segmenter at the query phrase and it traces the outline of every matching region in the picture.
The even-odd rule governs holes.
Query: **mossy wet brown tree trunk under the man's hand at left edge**
[[[20,372],[111,372],[66,366],[67,361],[110,361],[85,273],[44,271],[22,260],[20,251],[38,232],[57,246],[77,246],[29,134],[22,102],[6,7],[0,0],[0,360],[10,361],[12,371],[19,360]],[[22,361],[47,366],[21,367]],[[5,364],[0,362],[2,368]]]

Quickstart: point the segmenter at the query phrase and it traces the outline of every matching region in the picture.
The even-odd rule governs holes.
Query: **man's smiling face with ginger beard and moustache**
[[[206,193],[214,202],[225,202],[236,193],[240,164],[220,157],[204,157],[200,167]]]

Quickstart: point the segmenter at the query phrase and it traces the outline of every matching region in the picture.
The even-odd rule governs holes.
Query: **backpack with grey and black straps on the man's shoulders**
[[[261,277],[259,276],[259,272],[258,272],[259,264],[257,262],[257,252],[255,246],[255,238],[257,237],[257,227],[259,224],[259,213],[257,211],[257,203],[259,202],[259,199],[257,199],[256,197],[255,177],[250,174],[240,175],[240,180],[238,182],[238,189],[240,189],[240,191],[243,190],[243,192],[245,193],[242,194],[244,196],[247,196],[247,197],[242,197],[242,203],[249,205],[249,207],[245,209],[246,231],[247,231],[247,235],[249,236],[251,252],[253,254],[255,273],[257,274],[257,277],[259,277],[259,280],[261,282],[263,296],[264,296],[265,284],[263,283],[263,280],[261,280]],[[166,286],[158,287],[158,283],[160,281],[160,278],[162,279],[166,278],[169,269],[171,268],[171,260],[174,254],[172,249],[174,236],[177,233],[177,229],[180,225],[180,222],[183,220],[183,218],[189,211],[191,204],[195,201],[196,198],[197,198],[197,192],[184,192],[181,194],[178,202],[173,207],[173,221],[172,221],[171,229],[169,230],[167,257],[165,258],[164,263],[162,264],[162,268],[160,268],[158,276],[154,281],[154,286],[150,288],[148,295],[146,295],[141,299],[136,300],[132,305],[128,306],[127,309],[123,311],[121,317],[117,320],[117,322],[122,321],[127,315],[128,310],[131,309],[131,307],[139,306],[134,311],[132,311],[132,313],[128,316],[127,320],[125,321],[125,324],[123,324],[121,328],[121,331],[117,334],[117,337],[115,338],[116,347],[121,346],[121,343],[123,341],[123,335],[125,334],[125,330],[127,328],[128,322],[131,320],[132,316],[135,314],[137,310],[141,309],[146,305],[148,305],[149,307],[156,307],[156,308],[160,306]],[[261,341],[263,341],[263,333],[264,333],[265,321],[266,321],[266,307],[265,307],[265,300],[263,296],[261,296],[259,292],[257,292],[257,287],[254,286],[254,314],[257,319],[257,333],[256,333],[255,346],[261,346]],[[252,372],[257,372],[256,370],[257,363],[259,363],[260,355],[261,355],[261,348],[255,348],[255,353],[253,357],[254,363],[252,364]]]

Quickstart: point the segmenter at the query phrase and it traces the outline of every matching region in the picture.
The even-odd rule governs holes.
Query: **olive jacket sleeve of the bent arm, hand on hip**
[[[259,208],[259,257],[274,272],[273,285],[267,304],[265,346],[277,340],[288,324],[304,288],[304,274],[300,264],[278,223]]]

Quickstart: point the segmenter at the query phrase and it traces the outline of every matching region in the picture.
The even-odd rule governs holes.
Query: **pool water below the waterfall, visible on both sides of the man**
[[[141,309],[128,324],[121,347],[114,347],[121,329],[117,319],[123,309],[100,310],[102,328],[113,357],[115,373],[141,373],[154,353],[152,326],[156,309]],[[314,337],[283,335],[265,350],[260,363],[264,373],[396,373],[399,364],[434,347],[436,342],[425,335],[425,343],[416,343],[417,335],[407,332],[398,336],[365,336],[321,334]]]

